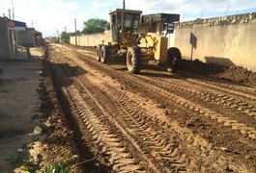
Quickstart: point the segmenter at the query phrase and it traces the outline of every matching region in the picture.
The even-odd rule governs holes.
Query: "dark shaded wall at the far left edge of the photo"
[[[7,28],[7,19],[0,17],[0,60],[11,56],[11,45]]]

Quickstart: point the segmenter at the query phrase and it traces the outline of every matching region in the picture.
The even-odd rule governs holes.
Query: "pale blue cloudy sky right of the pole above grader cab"
[[[256,11],[256,1],[252,0],[128,0],[128,9],[147,13],[180,13],[184,19],[213,17],[242,11]]]

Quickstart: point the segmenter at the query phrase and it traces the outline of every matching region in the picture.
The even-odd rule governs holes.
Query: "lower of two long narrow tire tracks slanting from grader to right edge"
[[[81,60],[83,60],[84,61],[84,59],[83,58],[81,58],[81,56],[80,55],[77,55],[78,56],[78,58],[79,59],[81,59]],[[99,68],[100,67],[100,69],[102,68],[103,70],[102,71],[105,71],[105,72],[107,72],[108,74],[109,74],[109,71],[111,71],[110,70],[110,68],[111,67],[107,67],[107,66],[102,66],[100,63],[98,63],[98,62],[90,62],[91,60],[89,60],[89,62],[88,61],[86,61],[86,62],[88,62],[89,64],[93,64],[93,67],[94,66],[96,66],[97,68]],[[112,69],[112,71],[113,71],[113,69]],[[115,74],[115,75],[113,75],[112,73],[117,73],[117,74]],[[133,82],[135,82],[137,85],[135,85],[135,87],[136,86],[144,86],[145,87],[145,82],[139,82],[140,80],[138,80],[136,77],[134,77],[134,76],[131,76],[131,75],[129,75],[129,74],[126,74],[126,73],[122,73],[122,72],[118,72],[118,71],[115,71],[115,72],[111,72],[111,74],[110,74],[110,76],[112,76],[112,77],[114,77],[114,78],[118,78],[117,77],[117,75],[120,75],[121,77],[120,78],[125,78],[125,79],[128,79],[128,81],[129,81],[129,78],[130,77],[133,77]],[[120,79],[119,78],[119,79]],[[135,79],[134,79],[135,78]],[[124,83],[123,83],[124,84]],[[128,84],[128,83],[127,83]],[[125,85],[126,85],[126,83],[125,83]],[[131,87],[133,87],[132,85],[131,85]],[[161,93],[161,95],[162,95],[162,97],[165,97],[165,98],[172,98],[172,97],[170,97],[170,96],[176,96],[176,95],[168,95],[168,91],[164,91],[164,89],[158,89],[156,86],[154,87],[154,86],[151,86],[151,85],[149,85],[149,86],[147,86],[146,85],[146,88],[148,89],[148,90],[151,90],[151,91],[153,91],[153,92],[156,92],[156,93]],[[225,119],[225,117],[222,117],[222,115],[220,114],[215,114],[215,112],[213,112],[212,114],[208,114],[208,115],[206,115],[206,113],[207,113],[207,111],[209,111],[209,110],[204,110],[204,108],[197,108],[197,106],[198,105],[193,105],[193,104],[191,104],[191,103],[187,103],[186,101],[185,101],[185,99],[183,98],[183,97],[177,97],[176,96],[176,98],[175,99],[172,99],[175,103],[177,103],[177,104],[179,104],[180,106],[185,106],[185,108],[190,108],[191,110],[193,110],[193,111],[196,111],[196,112],[199,112],[199,113],[201,113],[201,114],[205,114],[204,116],[207,116],[207,117],[210,117],[210,119],[211,118],[213,118],[213,119],[216,119],[217,120],[217,122],[219,121],[219,122],[221,122],[221,121],[223,121],[224,122],[224,124],[226,123],[226,124],[228,124],[229,122],[230,122],[230,120],[229,119]],[[202,110],[203,109],[203,110]],[[206,112],[204,112],[204,111],[206,111]],[[189,112],[189,111],[188,111]],[[193,114],[193,113],[192,113]],[[236,122],[230,122],[230,124],[236,124]],[[237,124],[238,125],[238,124]],[[233,126],[232,126],[233,127]],[[235,126],[234,126],[235,127]],[[242,128],[246,128],[246,126],[244,127],[242,127]],[[240,130],[242,130],[241,129],[241,127],[240,127]],[[246,129],[246,130],[248,130],[248,129]],[[251,129],[250,129],[251,130]]]

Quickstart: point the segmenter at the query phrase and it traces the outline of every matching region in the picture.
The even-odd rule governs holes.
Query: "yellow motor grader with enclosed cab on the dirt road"
[[[177,70],[182,59],[176,47],[167,50],[168,38],[156,33],[139,33],[141,11],[116,9],[109,12],[111,41],[97,47],[97,60],[106,63],[110,56],[122,55],[127,58],[128,71],[140,72],[141,65],[149,61],[163,64],[170,72]]]

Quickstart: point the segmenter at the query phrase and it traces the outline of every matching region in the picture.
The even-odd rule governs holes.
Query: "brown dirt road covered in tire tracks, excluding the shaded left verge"
[[[81,157],[116,172],[256,172],[256,88],[125,64],[60,44],[48,59]],[[88,149],[87,148],[87,149]]]

